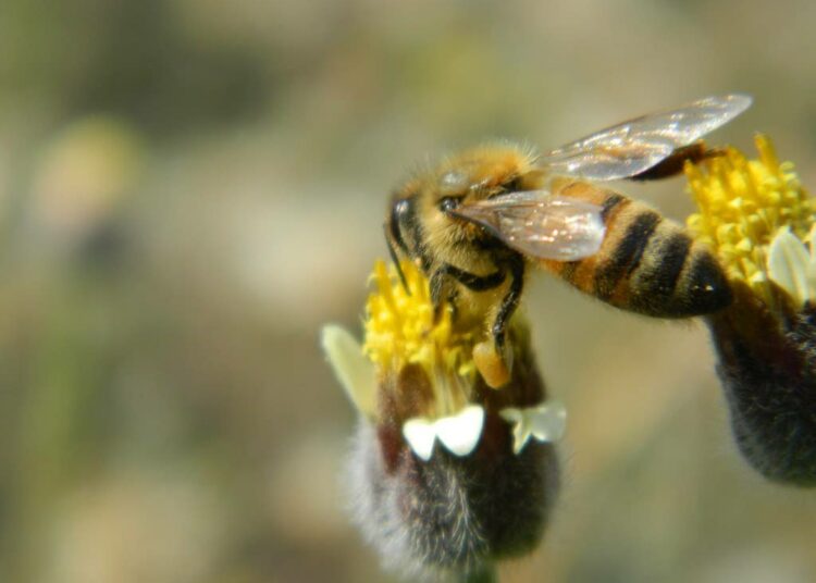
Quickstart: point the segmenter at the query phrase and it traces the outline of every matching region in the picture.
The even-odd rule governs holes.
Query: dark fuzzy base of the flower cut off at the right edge
[[[780,322],[741,292],[709,328],[742,454],[770,480],[816,485],[816,310]]]

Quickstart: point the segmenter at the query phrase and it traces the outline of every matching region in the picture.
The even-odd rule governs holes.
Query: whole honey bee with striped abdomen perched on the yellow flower
[[[420,265],[435,306],[447,299],[457,318],[486,318],[498,351],[528,265],[646,315],[717,311],[731,292],[710,251],[679,224],[597,183],[663,178],[685,160],[717,156],[701,138],[750,104],[744,95],[708,97],[543,156],[512,144],[463,151],[395,194],[385,224],[392,258]]]

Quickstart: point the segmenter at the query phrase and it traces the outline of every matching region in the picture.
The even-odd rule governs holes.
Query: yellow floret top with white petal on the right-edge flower
[[[687,164],[700,209],[688,226],[712,246],[732,282],[747,285],[771,309],[780,302],[800,308],[813,299],[802,282],[811,278],[805,244],[816,204],[793,164],[779,162],[770,139],[758,134],[754,141],[756,160],[728,148],[724,156]]]

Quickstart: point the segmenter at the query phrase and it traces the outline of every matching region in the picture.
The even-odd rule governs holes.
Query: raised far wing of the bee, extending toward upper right
[[[607,127],[551,150],[541,162],[552,174],[588,181],[628,178],[730,122],[751,101],[750,96],[739,94],[706,97]]]

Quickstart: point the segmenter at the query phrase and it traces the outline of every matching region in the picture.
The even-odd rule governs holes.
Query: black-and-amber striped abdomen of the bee
[[[716,258],[677,223],[590,184],[572,183],[559,194],[599,204],[606,236],[592,257],[542,262],[548,271],[617,308],[646,315],[702,315],[731,302]]]

